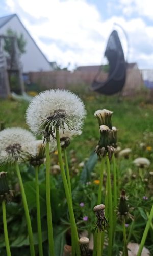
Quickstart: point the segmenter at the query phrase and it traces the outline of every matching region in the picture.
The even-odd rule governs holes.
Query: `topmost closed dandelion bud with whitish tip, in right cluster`
[[[94,116],[97,117],[99,126],[106,125],[110,129],[112,129],[112,121],[111,121],[112,114],[113,114],[112,111],[103,109],[103,110],[95,111]]]

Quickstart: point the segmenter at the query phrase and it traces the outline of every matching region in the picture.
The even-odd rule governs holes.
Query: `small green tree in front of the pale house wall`
[[[22,33],[18,35],[16,31],[13,31],[11,28],[9,28],[7,30],[6,36],[8,36],[8,38],[4,38],[4,50],[9,54],[10,57],[13,52],[13,44],[11,37],[16,37],[20,55],[26,52],[25,45],[27,44],[27,42],[24,39]]]

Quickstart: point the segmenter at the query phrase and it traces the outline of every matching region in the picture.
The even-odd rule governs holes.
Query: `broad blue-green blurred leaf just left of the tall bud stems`
[[[85,163],[85,166],[80,176],[80,182],[82,184],[86,184],[86,182],[90,180],[91,172],[93,171],[93,168],[97,163],[97,160],[98,160],[97,154],[95,152],[92,152],[88,161]]]

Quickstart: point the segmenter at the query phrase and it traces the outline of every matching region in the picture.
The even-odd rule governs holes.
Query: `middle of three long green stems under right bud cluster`
[[[106,156],[107,163],[107,179],[108,179],[108,216],[109,216],[109,242],[108,242],[108,256],[112,255],[112,240],[113,240],[113,206],[112,206],[112,187],[111,187],[111,174],[110,174],[110,160]]]

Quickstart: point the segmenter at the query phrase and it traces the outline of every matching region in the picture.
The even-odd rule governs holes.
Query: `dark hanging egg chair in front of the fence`
[[[108,39],[105,57],[109,61],[108,79],[105,82],[98,81],[97,77],[101,72],[98,71],[91,84],[91,90],[105,95],[112,95],[121,92],[126,78],[126,62],[116,30],[113,30]]]

